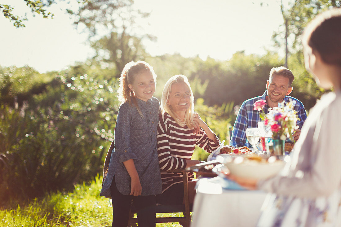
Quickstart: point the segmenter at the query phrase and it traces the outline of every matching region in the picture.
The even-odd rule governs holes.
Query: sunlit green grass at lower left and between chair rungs
[[[111,226],[112,208],[99,196],[102,182],[98,176],[91,184],[75,185],[73,192],[46,194],[30,202],[10,201],[0,209],[0,227],[104,227]],[[182,213],[157,214],[182,216]],[[180,227],[179,223],[157,223],[157,227]]]

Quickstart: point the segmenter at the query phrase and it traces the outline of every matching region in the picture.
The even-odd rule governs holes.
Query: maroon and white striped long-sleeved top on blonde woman
[[[190,160],[195,145],[207,152],[212,152],[219,147],[219,138],[216,141],[207,137],[201,128],[200,133],[193,135],[193,130],[185,126],[180,126],[168,113],[159,115],[158,125],[158,155],[161,170],[183,169],[186,167],[186,160]],[[182,173],[161,173],[162,192],[170,186],[183,182]],[[193,180],[193,173],[189,174]]]

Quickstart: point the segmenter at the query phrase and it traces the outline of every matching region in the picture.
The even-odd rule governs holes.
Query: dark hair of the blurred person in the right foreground
[[[325,63],[341,67],[341,9],[316,16],[305,29],[302,42],[317,51]]]

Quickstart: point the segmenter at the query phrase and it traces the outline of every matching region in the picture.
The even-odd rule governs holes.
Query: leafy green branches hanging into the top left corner
[[[64,1],[64,0],[62,0]],[[87,0],[77,0],[78,3],[85,2]],[[54,14],[51,12],[47,12],[47,8],[52,5],[53,3],[56,3],[55,0],[24,0],[26,5],[29,7],[31,12],[34,14],[41,14],[44,18],[53,18]],[[0,11],[3,13],[3,15],[8,18],[11,22],[13,22],[13,25],[17,28],[25,27],[25,24],[23,23],[23,20],[27,20],[26,16],[19,16],[14,15],[13,11],[14,7],[12,5],[5,5],[0,4]]]

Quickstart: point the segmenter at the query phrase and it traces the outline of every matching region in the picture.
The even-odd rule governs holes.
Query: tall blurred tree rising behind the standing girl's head
[[[75,16],[75,25],[89,32],[89,41],[96,51],[94,59],[115,65],[120,72],[129,61],[143,60],[146,56],[142,40],[154,39],[143,34],[137,19],[149,16],[133,8],[134,0],[87,1]],[[116,75],[116,76],[119,76]]]

